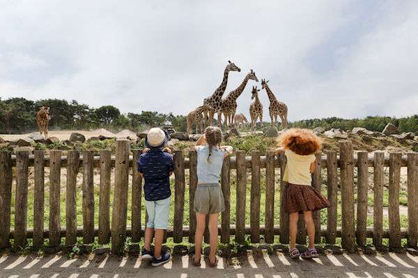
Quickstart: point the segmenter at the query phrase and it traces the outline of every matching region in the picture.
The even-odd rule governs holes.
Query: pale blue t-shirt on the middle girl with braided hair
[[[197,149],[197,180],[203,183],[218,183],[219,174],[224,163],[224,151],[212,147],[212,154],[209,155],[209,145],[199,146]]]

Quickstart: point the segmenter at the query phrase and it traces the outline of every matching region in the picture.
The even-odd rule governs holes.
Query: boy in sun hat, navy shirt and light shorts
[[[167,263],[170,253],[161,253],[164,230],[167,229],[170,213],[170,181],[174,165],[171,150],[164,148],[169,140],[168,134],[160,128],[148,131],[145,139],[146,149],[139,156],[138,172],[144,177],[144,193],[148,222],[146,223],[142,259],[152,259],[151,265]],[[150,244],[155,238],[154,253]]]

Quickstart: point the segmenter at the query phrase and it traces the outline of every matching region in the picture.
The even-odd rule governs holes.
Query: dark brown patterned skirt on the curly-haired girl
[[[303,211],[318,211],[331,206],[316,188],[289,183],[284,199],[286,213],[303,213]]]

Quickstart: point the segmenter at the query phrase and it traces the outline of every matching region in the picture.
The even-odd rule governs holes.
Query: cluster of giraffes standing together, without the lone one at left
[[[244,124],[244,122],[247,122],[247,119],[244,115],[242,115],[242,113],[235,115],[238,106],[236,100],[245,89],[249,79],[258,82],[258,78],[256,73],[251,70],[251,72],[245,76],[245,79],[242,81],[241,85],[239,85],[235,90],[229,92],[229,94],[224,99],[222,99],[226,89],[226,83],[228,83],[229,72],[241,71],[240,68],[237,67],[234,63],[231,63],[231,61],[228,62],[229,64],[225,68],[224,79],[222,80],[221,85],[219,85],[219,87],[210,97],[206,97],[206,99],[203,100],[202,106],[199,106],[187,115],[187,133],[189,133],[190,128],[194,123],[196,124],[196,133],[198,133],[199,127],[201,133],[203,133],[203,120],[205,121],[205,126],[208,126],[208,124],[212,125],[213,118],[215,117],[216,113],[218,114],[217,123],[219,127],[222,126],[222,114],[224,114],[224,124],[227,129],[233,127],[234,123],[235,128],[238,129],[240,123]],[[277,126],[277,116],[279,116],[281,122],[283,123],[284,129],[286,129],[288,108],[286,104],[278,101],[276,97],[274,97],[267,83],[268,81],[265,81],[265,79],[261,80],[261,88],[265,89],[268,95],[268,99],[270,100],[268,111],[272,119],[272,126]],[[260,90],[257,90],[257,87],[253,86],[251,99],[255,98],[256,100],[249,106],[249,115],[251,115],[251,131],[256,129],[256,122],[258,117],[260,118],[261,128],[263,128],[263,105],[258,99],[258,91]]]

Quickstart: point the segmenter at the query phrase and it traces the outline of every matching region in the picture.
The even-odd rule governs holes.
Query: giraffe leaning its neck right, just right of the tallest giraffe
[[[225,116],[225,126],[226,128],[233,126],[233,117],[235,116],[235,111],[237,110],[237,99],[241,95],[242,91],[245,89],[249,79],[255,80],[258,82],[256,73],[251,70],[245,76],[245,79],[242,81],[241,85],[238,86],[235,90],[229,92],[226,98],[222,99],[222,113]]]

